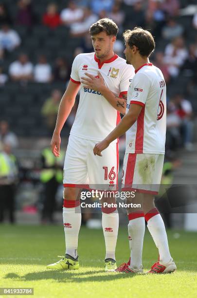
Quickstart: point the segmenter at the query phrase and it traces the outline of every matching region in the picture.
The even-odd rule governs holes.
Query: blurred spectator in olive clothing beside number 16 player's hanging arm
[[[42,106],[41,114],[45,117],[47,127],[50,131],[53,131],[55,127],[61,97],[62,93],[59,90],[54,90],[51,97]]]

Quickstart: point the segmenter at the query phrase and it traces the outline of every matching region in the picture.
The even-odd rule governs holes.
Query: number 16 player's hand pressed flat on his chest
[[[105,86],[104,78],[100,72],[98,72],[97,77],[85,73],[86,76],[82,76],[81,82],[85,85],[84,87],[90,88],[95,91],[102,92],[102,88]]]

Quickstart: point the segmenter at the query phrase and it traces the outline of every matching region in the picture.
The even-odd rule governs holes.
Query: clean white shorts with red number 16
[[[103,156],[95,156],[93,148],[96,143],[70,135],[64,162],[64,187],[118,188],[119,145],[111,143],[102,151]]]

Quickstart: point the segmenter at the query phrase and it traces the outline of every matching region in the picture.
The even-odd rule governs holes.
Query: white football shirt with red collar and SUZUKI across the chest
[[[98,71],[104,78],[105,85],[114,95],[127,93],[134,76],[134,68],[127,65],[125,59],[114,55],[100,63],[94,53],[79,54],[72,63],[71,81],[81,84],[85,73],[97,76]],[[87,140],[101,141],[120,121],[120,113],[114,109],[100,93],[81,84],[80,99],[71,135]]]

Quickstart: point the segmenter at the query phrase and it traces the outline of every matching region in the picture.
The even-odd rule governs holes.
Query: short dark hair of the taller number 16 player
[[[106,32],[108,36],[117,36],[118,26],[112,19],[99,19],[96,23],[90,26],[89,33],[90,35],[96,35],[101,32]]]

